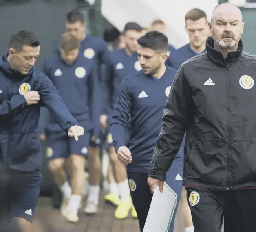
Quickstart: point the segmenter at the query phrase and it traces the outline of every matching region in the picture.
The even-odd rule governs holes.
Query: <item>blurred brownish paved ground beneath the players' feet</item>
[[[101,199],[103,197],[101,196]],[[117,220],[114,217],[115,208],[100,202],[99,213],[95,216],[79,214],[80,221],[76,224],[67,222],[60,211],[52,208],[50,198],[40,198],[35,210],[33,232],[139,232],[137,219],[128,217]],[[175,231],[184,232],[182,218],[178,213],[175,221]]]

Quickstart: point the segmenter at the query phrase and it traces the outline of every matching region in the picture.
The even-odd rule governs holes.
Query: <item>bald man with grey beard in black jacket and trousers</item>
[[[166,103],[148,184],[163,191],[186,132],[184,181],[195,232],[255,232],[256,56],[243,52],[244,23],[218,5],[206,52],[183,63]]]

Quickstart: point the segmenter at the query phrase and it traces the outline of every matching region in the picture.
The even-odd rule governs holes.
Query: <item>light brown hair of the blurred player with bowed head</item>
[[[60,39],[60,48],[64,52],[71,52],[75,49],[79,49],[80,41],[74,35],[69,32],[65,32]]]

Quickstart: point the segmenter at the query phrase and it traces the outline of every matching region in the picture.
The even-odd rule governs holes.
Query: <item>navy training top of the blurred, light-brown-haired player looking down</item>
[[[94,130],[97,136],[100,130],[100,85],[95,60],[79,54],[71,65],[55,51],[44,61],[44,72],[62,96],[68,110],[85,131]],[[40,119],[41,121],[41,119]],[[48,132],[62,132],[54,117],[46,125]]]

